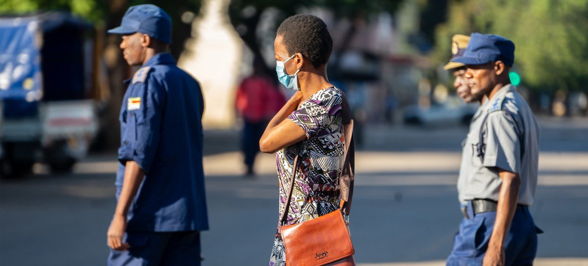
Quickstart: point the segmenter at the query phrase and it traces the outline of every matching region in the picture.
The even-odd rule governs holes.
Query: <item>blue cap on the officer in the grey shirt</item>
[[[464,65],[484,65],[500,60],[507,66],[515,63],[515,43],[499,35],[472,33],[463,56],[451,62]]]

